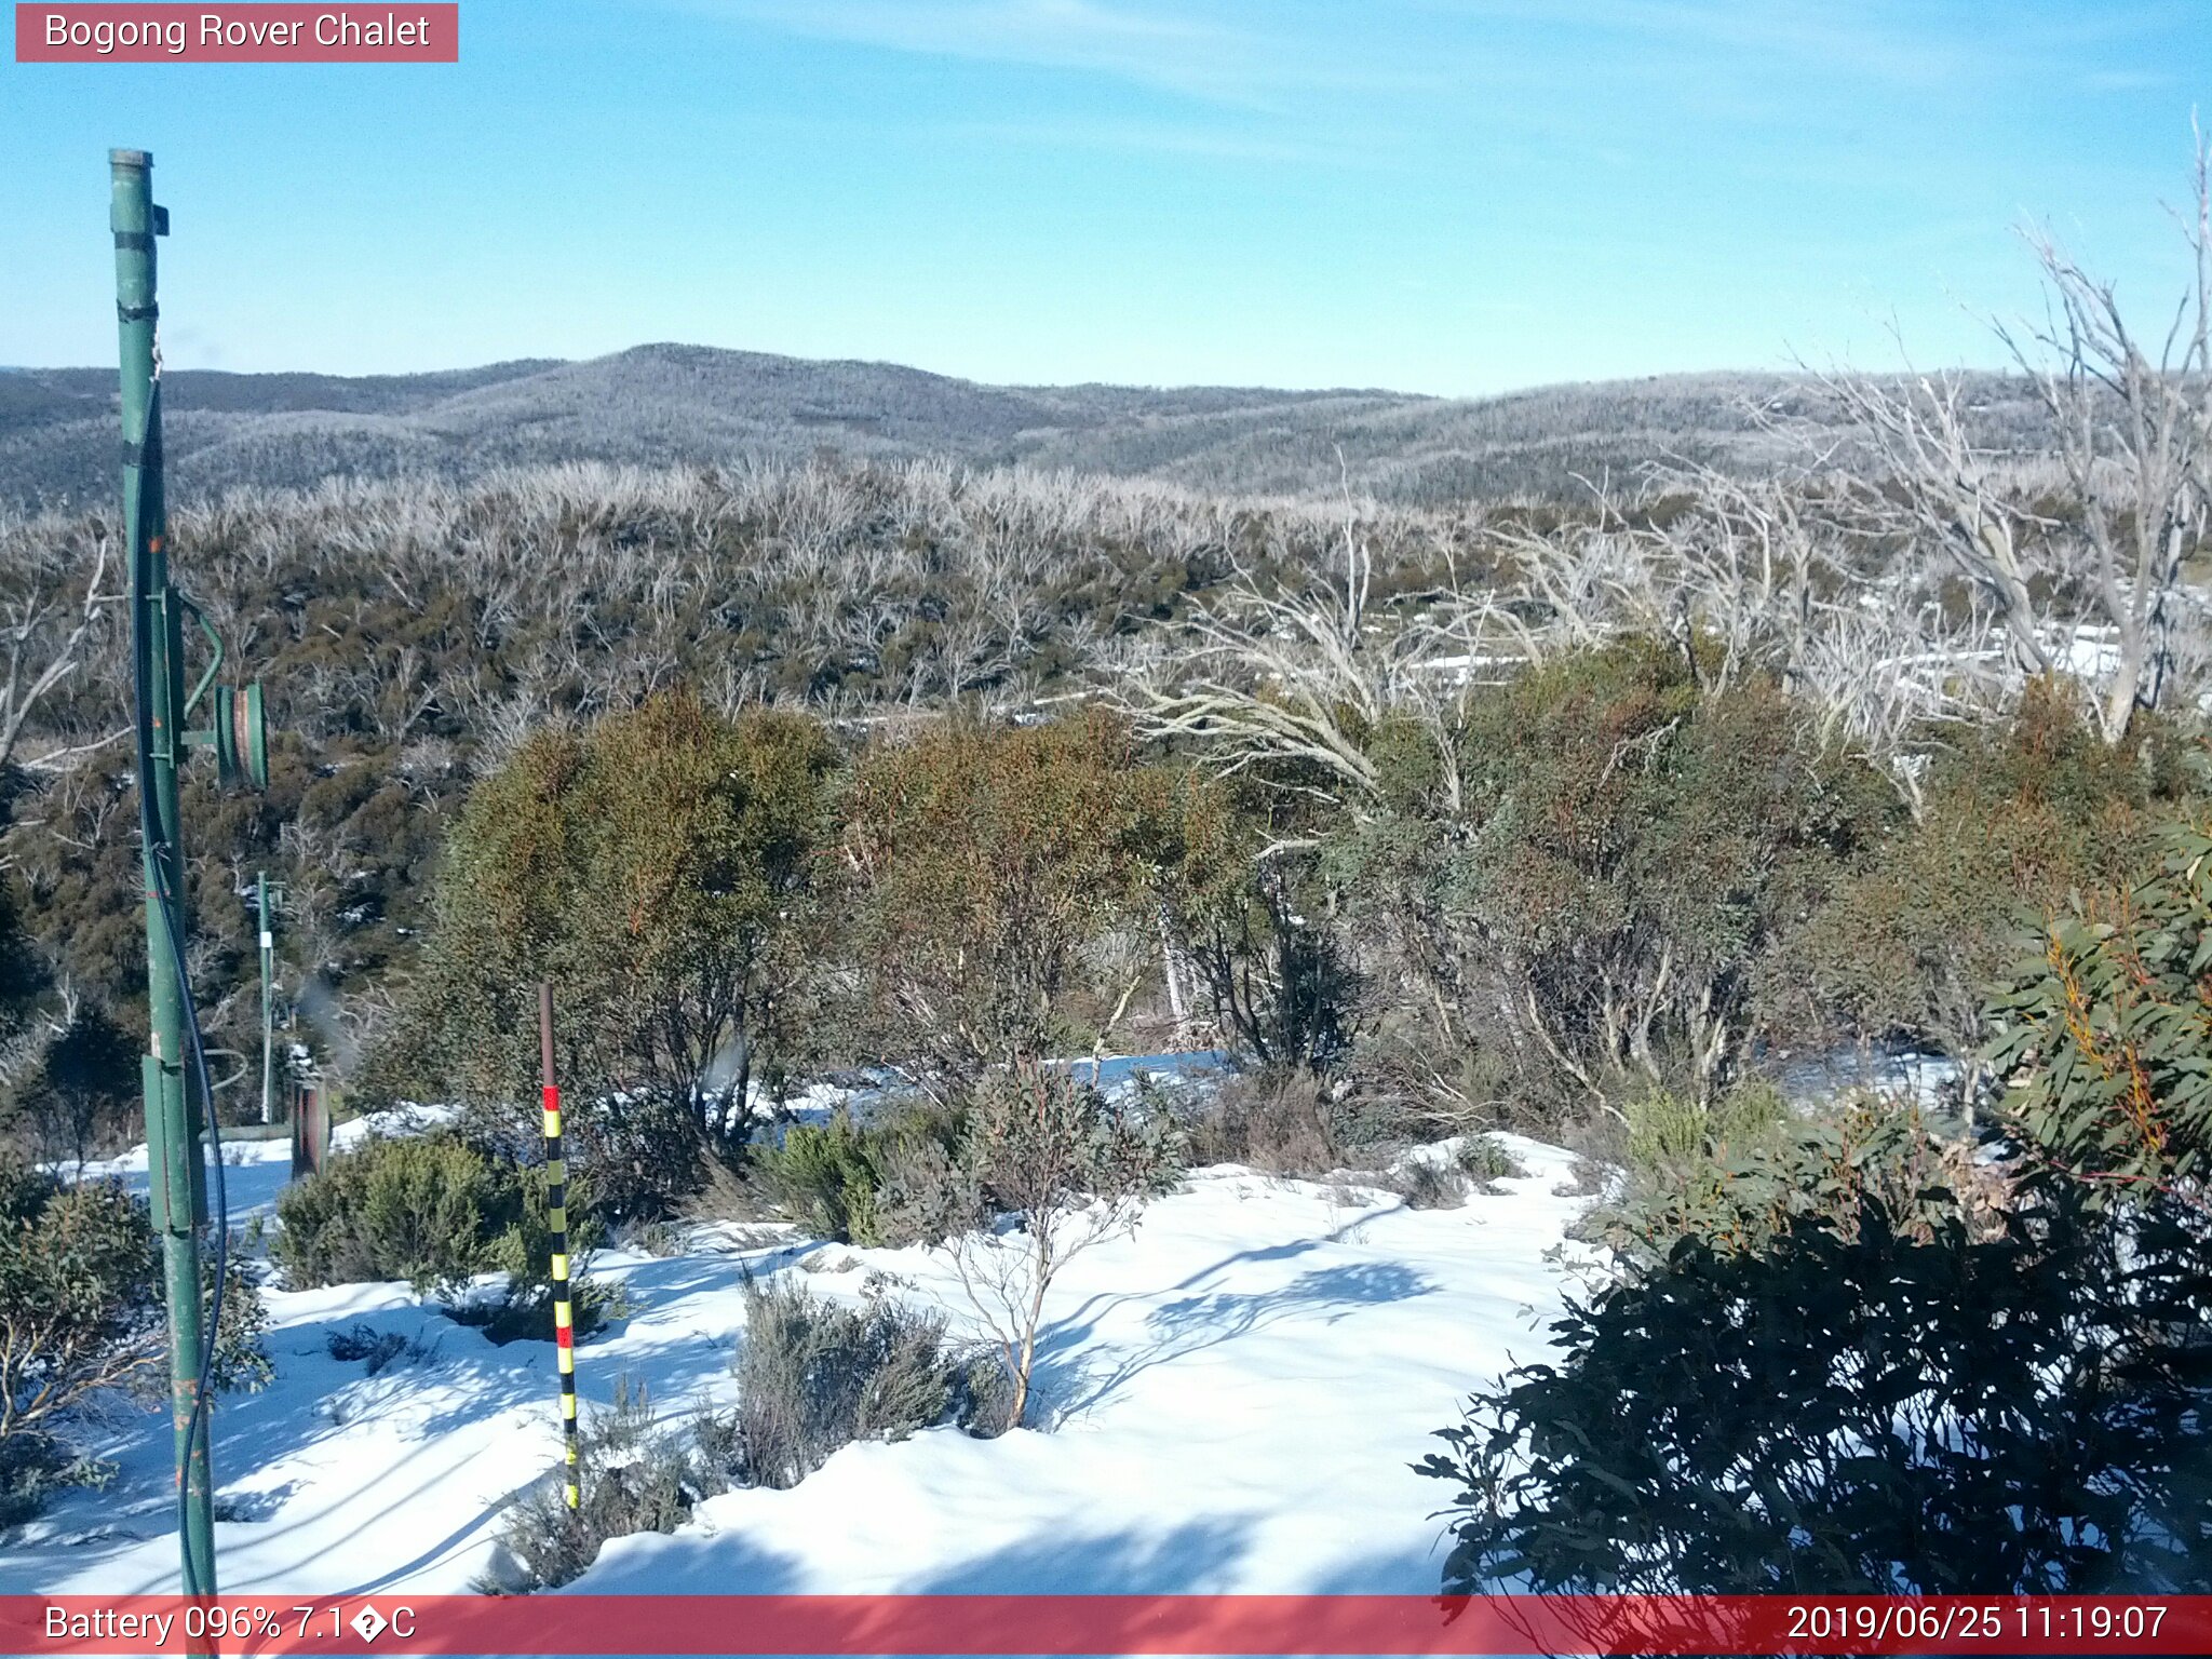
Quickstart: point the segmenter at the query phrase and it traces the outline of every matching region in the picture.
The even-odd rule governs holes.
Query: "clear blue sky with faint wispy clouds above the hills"
[[[458,66],[0,64],[0,363],[692,341],[1480,394],[1991,363],[2048,221],[2146,319],[2212,0],[465,0]]]

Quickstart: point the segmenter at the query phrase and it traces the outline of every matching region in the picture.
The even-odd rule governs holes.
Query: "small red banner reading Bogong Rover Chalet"
[[[458,64],[458,4],[15,7],[18,64]]]

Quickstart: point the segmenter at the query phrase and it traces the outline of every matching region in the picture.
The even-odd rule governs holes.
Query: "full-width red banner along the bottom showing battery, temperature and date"
[[[2212,1595],[0,1597],[0,1655],[2203,1655]]]

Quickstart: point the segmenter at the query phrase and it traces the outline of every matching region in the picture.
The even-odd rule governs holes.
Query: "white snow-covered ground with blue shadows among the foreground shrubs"
[[[1502,1139],[1526,1177],[1455,1210],[1199,1170],[1055,1283],[1051,1431],[847,1447],[792,1491],[728,1493],[675,1535],[613,1542],[573,1588],[1433,1590],[1449,1491],[1409,1464],[1469,1389],[1546,1349],[1553,1252],[1588,1203],[1564,1192],[1566,1152]],[[283,1168],[239,1152],[234,1217],[268,1208]],[[670,1420],[728,1405],[741,1267],[836,1296],[894,1274],[973,1329],[942,1254],[703,1225],[677,1256],[599,1256],[635,1312],[580,1347],[586,1402],[626,1374]],[[215,1416],[223,1590],[438,1593],[495,1571],[502,1504],[560,1458],[551,1345],[493,1347],[405,1285],[263,1294],[276,1383]],[[327,1349],[354,1323],[418,1356],[365,1376]],[[104,1451],[115,1484],[13,1537],[0,1593],[175,1584],[166,1422],[117,1425]]]

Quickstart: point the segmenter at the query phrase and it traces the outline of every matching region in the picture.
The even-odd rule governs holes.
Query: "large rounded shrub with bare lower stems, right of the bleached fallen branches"
[[[1562,655],[1469,695],[1460,805],[1332,827],[1327,867],[1418,987],[1405,1018],[1511,1055],[1517,1108],[1710,1102],[1792,933],[1900,816],[1809,730],[1770,679],[1703,686],[1672,641]]]

